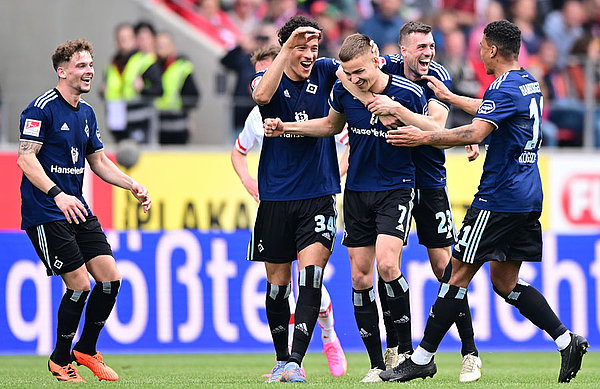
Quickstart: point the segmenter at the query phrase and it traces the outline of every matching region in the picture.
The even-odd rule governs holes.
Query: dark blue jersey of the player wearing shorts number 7
[[[382,94],[411,111],[426,114],[423,89],[408,79],[391,75]],[[346,188],[371,192],[415,187],[412,149],[386,142],[387,128],[376,115],[337,82],[329,98],[331,108],[346,116],[350,156]]]

